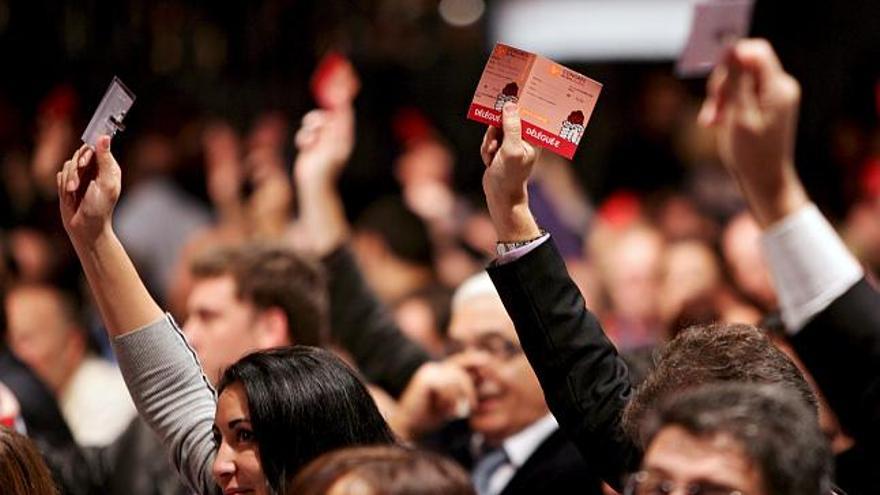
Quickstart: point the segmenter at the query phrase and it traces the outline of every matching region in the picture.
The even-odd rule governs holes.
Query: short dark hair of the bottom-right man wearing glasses
[[[665,427],[697,437],[729,435],[760,468],[773,495],[827,495],[831,450],[815,411],[785,386],[714,383],[675,394],[645,423],[649,442]]]

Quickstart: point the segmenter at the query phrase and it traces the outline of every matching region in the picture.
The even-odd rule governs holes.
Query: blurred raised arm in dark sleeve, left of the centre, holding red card
[[[370,381],[397,397],[430,357],[400,331],[346,247],[348,221],[336,181],[354,147],[354,109],[340,105],[306,114],[296,145],[300,221],[327,269],[333,335]]]

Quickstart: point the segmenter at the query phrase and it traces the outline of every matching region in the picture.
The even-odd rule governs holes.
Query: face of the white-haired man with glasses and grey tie
[[[453,308],[449,339],[451,359],[464,367],[477,390],[471,428],[490,445],[547,414],[538,378],[500,299],[477,296]]]

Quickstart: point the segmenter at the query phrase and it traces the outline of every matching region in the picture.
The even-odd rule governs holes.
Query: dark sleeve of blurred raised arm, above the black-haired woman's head
[[[370,382],[398,397],[430,356],[401,332],[367,287],[348,248],[337,249],[324,258],[323,264],[334,339],[352,354]]]

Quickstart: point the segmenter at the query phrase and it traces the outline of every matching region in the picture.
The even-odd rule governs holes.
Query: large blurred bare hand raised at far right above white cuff
[[[743,40],[712,73],[700,123],[716,129],[722,161],[768,226],[808,202],[794,169],[800,86],[766,40]]]

